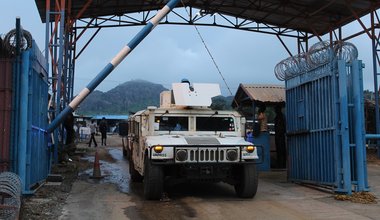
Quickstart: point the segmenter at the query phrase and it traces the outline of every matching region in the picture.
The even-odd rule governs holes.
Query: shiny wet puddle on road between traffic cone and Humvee
[[[93,183],[112,183],[118,186],[121,192],[130,194],[130,176],[128,172],[128,162],[123,158],[123,153],[120,149],[110,149],[108,153],[116,160],[111,163],[104,160],[99,160],[100,171],[103,179],[96,180],[89,177],[93,174],[93,168],[79,173],[79,178]],[[88,160],[93,163],[93,156],[83,157],[83,160]]]

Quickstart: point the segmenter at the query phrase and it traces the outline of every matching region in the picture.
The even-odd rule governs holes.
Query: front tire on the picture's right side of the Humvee
[[[235,184],[236,195],[240,198],[253,198],[257,192],[258,173],[255,164],[245,164],[238,170]]]

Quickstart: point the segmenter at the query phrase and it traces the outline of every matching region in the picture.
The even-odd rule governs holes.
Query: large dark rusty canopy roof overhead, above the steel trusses
[[[45,22],[46,0],[35,0],[35,2],[41,20]],[[89,1],[66,1],[67,4],[69,4],[68,2],[70,2],[71,8],[67,11],[71,11],[71,16],[76,16]],[[96,18],[155,10],[163,7],[164,2],[166,1],[90,1],[89,7],[79,18]],[[247,21],[320,35],[354,21],[356,19],[354,14],[361,17],[380,7],[380,1],[375,0],[184,0],[183,2],[186,6],[204,9],[212,13],[218,12]],[[50,1],[50,3],[51,8],[54,8],[56,1]],[[183,7],[183,5],[180,3],[178,7]]]

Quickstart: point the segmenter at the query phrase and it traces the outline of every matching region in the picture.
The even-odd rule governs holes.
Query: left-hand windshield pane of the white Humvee
[[[155,131],[188,131],[189,118],[179,116],[156,116],[154,118]]]

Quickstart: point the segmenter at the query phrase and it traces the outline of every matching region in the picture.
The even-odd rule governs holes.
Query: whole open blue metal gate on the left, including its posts
[[[12,135],[12,171],[22,182],[23,194],[33,193],[35,186],[45,180],[51,167],[48,148],[48,79],[45,58],[33,41],[32,48],[21,53],[21,62],[15,62],[13,87],[14,127]],[[17,90],[17,91],[16,91]]]

